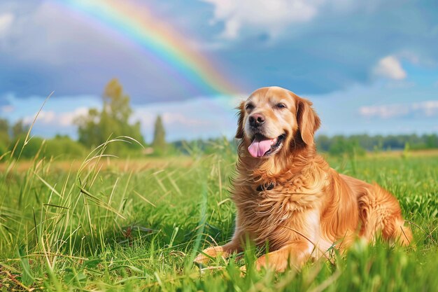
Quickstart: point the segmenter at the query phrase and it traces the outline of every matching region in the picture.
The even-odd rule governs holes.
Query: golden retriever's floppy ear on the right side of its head
[[[301,138],[307,145],[312,145],[313,136],[318,130],[321,120],[312,108],[312,103],[300,98],[297,102],[297,122]]]

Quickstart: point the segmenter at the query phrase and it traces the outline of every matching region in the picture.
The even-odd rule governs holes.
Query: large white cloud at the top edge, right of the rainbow
[[[318,14],[325,0],[204,0],[214,6],[213,22],[223,21],[221,36],[236,39],[243,27],[278,34],[294,22],[306,22]]]

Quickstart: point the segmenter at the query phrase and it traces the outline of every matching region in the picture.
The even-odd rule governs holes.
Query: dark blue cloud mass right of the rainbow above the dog
[[[387,55],[438,60],[438,10],[419,3],[332,11],[288,29],[291,33],[277,41],[257,42],[251,36],[236,41],[221,57],[231,60],[232,71],[246,76],[254,88],[281,85],[302,94],[369,83],[372,67]]]

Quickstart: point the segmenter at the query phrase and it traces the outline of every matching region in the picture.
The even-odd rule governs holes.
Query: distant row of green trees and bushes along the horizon
[[[13,153],[15,157],[33,158],[36,153],[40,153],[48,157],[81,158],[91,149],[111,140],[111,143],[106,146],[106,153],[118,156],[209,154],[215,153],[225,144],[231,146],[228,148],[235,151],[236,143],[225,138],[167,143],[161,116],[157,116],[155,120],[153,141],[147,145],[141,134],[139,121],[132,120],[133,110],[129,95],[124,92],[118,79],[109,81],[101,100],[101,110],[89,109],[87,114],[76,118],[74,123],[78,125],[78,141],[62,135],[56,135],[52,139],[32,137],[23,147],[29,125],[24,125],[22,120],[9,125],[8,120],[0,118],[0,157],[5,153]],[[360,155],[366,151],[390,151],[406,148],[428,149],[438,148],[438,135],[370,136],[358,134],[348,137],[342,135],[328,137],[320,134],[316,137],[316,146],[318,151],[331,155]]]

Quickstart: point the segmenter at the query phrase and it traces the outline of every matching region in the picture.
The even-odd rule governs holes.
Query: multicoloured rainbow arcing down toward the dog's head
[[[127,0],[68,0],[57,2],[85,14],[144,48],[181,79],[190,91],[202,95],[229,95],[238,92],[215,69],[208,58],[190,46],[190,40],[169,24],[156,18],[149,8]]]

